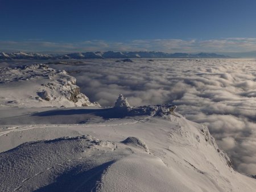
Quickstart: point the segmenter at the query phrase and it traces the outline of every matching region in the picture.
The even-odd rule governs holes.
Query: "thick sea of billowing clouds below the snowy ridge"
[[[177,112],[207,124],[234,168],[256,175],[256,60],[134,59],[69,61],[51,65],[77,78],[90,101],[113,106],[173,103]]]

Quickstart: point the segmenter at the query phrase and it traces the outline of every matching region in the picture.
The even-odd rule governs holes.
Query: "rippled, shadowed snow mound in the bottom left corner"
[[[89,191],[118,158],[108,154],[115,149],[90,135],[24,143],[0,155],[0,190]]]

